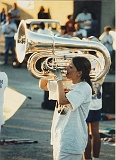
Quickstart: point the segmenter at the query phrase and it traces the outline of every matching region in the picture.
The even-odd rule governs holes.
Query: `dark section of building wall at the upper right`
[[[88,7],[90,13],[95,13],[99,22],[99,35],[102,34],[103,28],[110,25],[114,28],[115,17],[115,0],[83,0],[74,1],[74,17],[82,11],[83,6]]]

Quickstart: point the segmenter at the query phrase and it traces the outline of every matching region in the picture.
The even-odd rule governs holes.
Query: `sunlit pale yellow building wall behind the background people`
[[[73,13],[73,0],[58,1],[58,0],[1,0],[0,11],[4,7],[8,11],[12,4],[16,2],[21,11],[21,19],[37,18],[40,6],[44,6],[45,12],[50,10],[51,18],[58,20],[61,25],[67,21],[67,15]]]

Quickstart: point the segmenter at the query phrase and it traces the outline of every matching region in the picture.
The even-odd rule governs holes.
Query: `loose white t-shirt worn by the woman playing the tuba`
[[[53,83],[55,84],[55,82]],[[54,91],[57,91],[57,87],[55,85],[54,89],[52,87],[52,82],[50,82],[48,89],[53,94]],[[66,93],[66,97],[70,104],[66,107],[65,114],[58,113],[57,108],[54,111],[51,144],[58,151],[82,154],[85,151],[88,139],[86,118],[92,90],[86,82],[71,84],[69,89],[70,91]],[[57,97],[57,93],[54,93],[54,95]]]

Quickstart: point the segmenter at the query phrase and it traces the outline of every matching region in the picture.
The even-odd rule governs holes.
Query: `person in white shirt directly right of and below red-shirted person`
[[[75,24],[75,32],[73,32],[73,37],[78,37],[80,39],[87,38],[87,31],[80,27],[80,24]]]

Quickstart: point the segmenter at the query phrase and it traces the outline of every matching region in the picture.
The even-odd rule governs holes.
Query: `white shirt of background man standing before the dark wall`
[[[76,18],[75,18],[75,21],[89,21],[91,20],[91,13],[79,13]],[[84,25],[84,23],[80,23],[80,26],[81,28],[84,28],[84,29],[88,29],[87,26]]]

